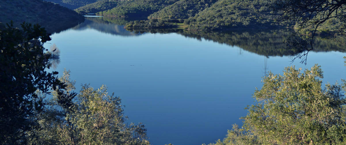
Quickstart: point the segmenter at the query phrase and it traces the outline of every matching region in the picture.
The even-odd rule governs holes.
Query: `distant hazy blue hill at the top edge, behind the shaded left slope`
[[[66,8],[73,10],[73,9],[85,6],[86,4],[93,3],[99,0],[45,0],[45,1],[58,3],[61,6],[64,6]]]

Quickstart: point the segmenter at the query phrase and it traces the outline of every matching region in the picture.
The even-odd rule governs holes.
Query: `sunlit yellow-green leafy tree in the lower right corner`
[[[322,89],[322,70],[286,67],[270,73],[256,90],[257,104],[248,106],[244,129],[263,145],[341,145],[346,140],[346,99],[338,84]]]

